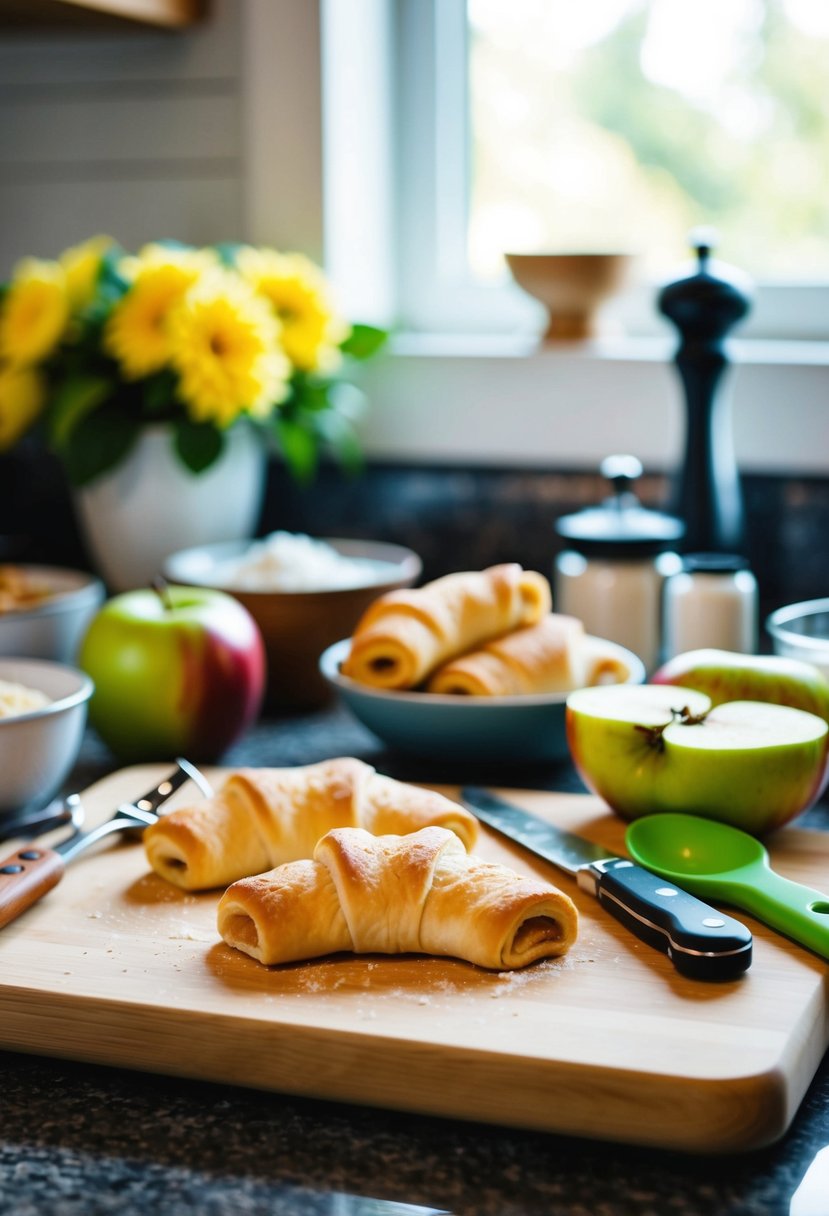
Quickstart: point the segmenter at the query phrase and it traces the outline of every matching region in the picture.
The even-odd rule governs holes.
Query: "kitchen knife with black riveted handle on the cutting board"
[[[461,796],[496,832],[573,874],[626,929],[664,951],[682,975],[731,980],[751,966],[751,934],[733,917],[487,789],[467,786]]]

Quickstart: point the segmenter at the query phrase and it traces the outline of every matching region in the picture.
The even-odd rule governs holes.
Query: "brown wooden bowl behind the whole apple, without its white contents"
[[[318,666],[322,652],[354,631],[373,599],[410,587],[421,574],[419,557],[401,545],[323,539],[344,557],[378,563],[376,581],[329,591],[249,591],[216,581],[220,567],[241,557],[250,541],[182,550],[164,563],[171,582],[219,587],[248,609],[265,643],[269,709],[317,709],[331,700],[331,685]]]

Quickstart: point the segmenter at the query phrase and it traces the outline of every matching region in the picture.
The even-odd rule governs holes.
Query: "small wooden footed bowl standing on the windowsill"
[[[581,342],[599,332],[602,305],[624,286],[631,253],[507,253],[523,291],[547,309],[545,342]]]

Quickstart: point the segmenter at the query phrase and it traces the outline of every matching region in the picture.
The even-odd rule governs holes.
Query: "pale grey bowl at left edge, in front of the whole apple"
[[[92,681],[43,659],[0,659],[0,680],[36,688],[50,703],[0,717],[0,817],[45,806],[78,758]]]

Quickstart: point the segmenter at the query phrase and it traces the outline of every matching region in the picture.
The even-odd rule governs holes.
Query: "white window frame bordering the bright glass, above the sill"
[[[466,0],[397,0],[400,36],[400,315],[414,332],[537,327],[535,305],[513,285],[475,282],[466,265],[469,146]],[[690,257],[690,255],[689,255]],[[610,306],[632,336],[665,332],[654,306],[658,283],[641,283]],[[756,286],[745,338],[829,340],[825,283]]]

